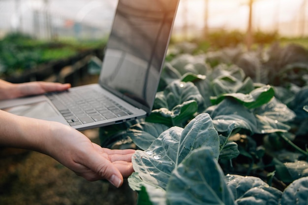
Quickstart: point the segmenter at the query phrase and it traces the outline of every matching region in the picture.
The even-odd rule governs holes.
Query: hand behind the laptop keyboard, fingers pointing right
[[[12,84],[0,80],[0,100],[43,94],[45,92],[63,91],[70,87],[70,84],[61,83],[29,82]]]

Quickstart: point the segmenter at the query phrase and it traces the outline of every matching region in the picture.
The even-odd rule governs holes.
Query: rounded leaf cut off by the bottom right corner
[[[293,181],[283,192],[281,205],[308,204],[308,177]]]

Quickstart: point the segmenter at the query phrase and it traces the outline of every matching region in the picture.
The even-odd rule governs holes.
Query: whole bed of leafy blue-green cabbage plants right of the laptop
[[[277,85],[283,72],[302,75],[305,66],[284,60],[279,75],[257,81],[273,75],[269,65],[287,48],[267,52],[268,61],[223,51],[216,66],[210,52],[167,58],[151,115],[120,134],[103,129],[109,142],[137,146],[128,181],[138,205],[307,204],[308,78]]]

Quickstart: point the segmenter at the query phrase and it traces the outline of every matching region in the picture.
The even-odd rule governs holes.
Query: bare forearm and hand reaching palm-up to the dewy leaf
[[[107,179],[120,187],[123,177],[133,172],[131,157],[134,150],[102,148],[77,130],[58,122],[0,111],[0,133],[0,146],[47,154],[90,181]]]

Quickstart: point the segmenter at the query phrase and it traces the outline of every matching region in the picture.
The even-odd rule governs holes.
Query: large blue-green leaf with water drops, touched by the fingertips
[[[185,127],[164,131],[146,150],[137,150],[133,167],[147,183],[166,188],[171,172],[194,149],[209,146],[214,157],[219,156],[219,137],[208,114],[200,114]]]

